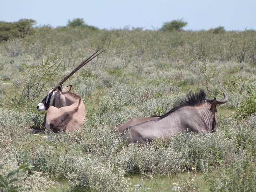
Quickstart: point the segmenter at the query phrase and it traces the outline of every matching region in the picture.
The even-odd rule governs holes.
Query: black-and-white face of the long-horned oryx
[[[62,91],[62,86],[58,85],[57,89],[51,89],[50,92],[48,93],[48,95],[40,102],[38,103],[36,109],[38,110],[38,112],[42,113],[46,110],[48,110],[48,108],[50,106],[54,106],[54,99],[55,99],[55,94],[58,92]]]

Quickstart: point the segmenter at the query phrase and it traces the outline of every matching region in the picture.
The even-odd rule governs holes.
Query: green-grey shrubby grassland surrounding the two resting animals
[[[31,134],[43,122],[37,104],[98,48],[106,51],[63,85],[84,101],[82,129]],[[256,191],[255,82],[254,30],[43,26],[2,41],[0,190]],[[200,89],[207,98],[228,95],[218,106],[216,133],[145,146],[127,146],[117,133],[126,120],[164,114]]]

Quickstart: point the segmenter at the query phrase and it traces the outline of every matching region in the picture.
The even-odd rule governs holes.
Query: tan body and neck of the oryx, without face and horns
[[[80,96],[69,92],[68,86],[54,94],[54,106],[50,106],[45,114],[44,126],[53,132],[73,132],[81,127],[86,119],[86,110]]]

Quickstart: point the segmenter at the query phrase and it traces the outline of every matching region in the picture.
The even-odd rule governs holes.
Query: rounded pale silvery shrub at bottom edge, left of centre
[[[128,192],[130,184],[120,169],[106,166],[98,158],[85,155],[73,164],[74,172],[68,174],[71,188],[74,190],[92,190],[104,192]]]

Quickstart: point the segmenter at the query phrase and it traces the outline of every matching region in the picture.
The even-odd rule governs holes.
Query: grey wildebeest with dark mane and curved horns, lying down
[[[118,132],[128,137],[128,144],[151,142],[154,138],[168,138],[179,132],[207,134],[215,132],[217,104],[224,100],[206,99],[206,92],[189,92],[184,100],[162,116],[133,118],[118,128]]]

